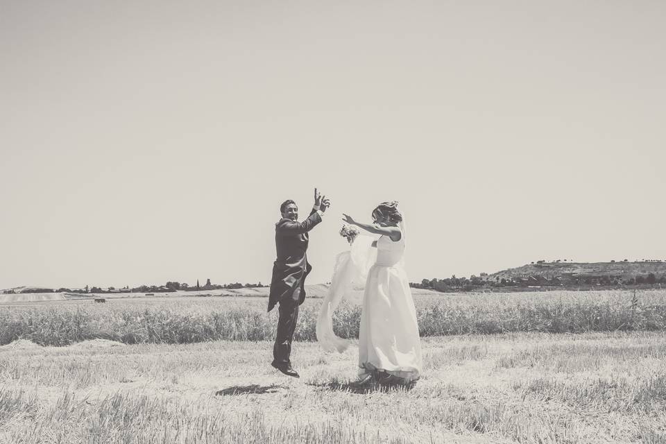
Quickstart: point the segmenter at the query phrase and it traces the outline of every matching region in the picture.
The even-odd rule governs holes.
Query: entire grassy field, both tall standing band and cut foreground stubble
[[[268,365],[265,299],[0,307],[0,442],[666,443],[665,293],[415,299],[421,379],[367,390],[354,339],[309,341],[318,300],[300,379]]]

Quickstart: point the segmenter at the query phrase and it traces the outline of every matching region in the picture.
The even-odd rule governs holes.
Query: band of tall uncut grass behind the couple
[[[301,307],[295,339],[315,341],[321,300]],[[421,336],[502,332],[580,333],[666,330],[666,291],[549,292],[443,295],[416,298]],[[196,343],[214,340],[273,339],[277,310],[265,300],[206,298],[196,302],[11,307],[0,309],[0,345],[29,339],[40,345],[68,345],[87,339],[122,343]],[[342,305],[334,330],[345,338],[359,334],[361,309]]]

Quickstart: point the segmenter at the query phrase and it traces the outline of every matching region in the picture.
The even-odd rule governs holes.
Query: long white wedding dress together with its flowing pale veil
[[[416,309],[402,264],[404,238],[402,230],[399,241],[382,236],[377,239],[377,248],[370,248],[373,239],[359,235],[351,250],[336,258],[330,292],[317,322],[317,339],[324,350],[345,350],[348,341],[333,333],[332,313],[341,298],[359,302],[354,300],[354,289],[364,282],[359,332],[361,375],[384,370],[411,381],[418,379],[422,369]]]

